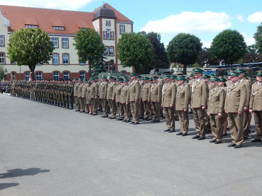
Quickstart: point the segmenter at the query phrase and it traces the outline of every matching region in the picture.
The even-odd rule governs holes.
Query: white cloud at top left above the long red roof
[[[1,4],[8,6],[37,7],[59,10],[78,10],[79,8],[86,6],[92,1],[97,0],[8,0],[2,2]]]

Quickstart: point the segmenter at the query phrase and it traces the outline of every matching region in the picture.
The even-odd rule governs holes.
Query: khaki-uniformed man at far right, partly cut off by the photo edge
[[[249,112],[253,113],[255,121],[255,139],[251,142],[261,142],[261,119],[262,119],[262,71],[256,71],[257,82],[252,85],[249,102]]]

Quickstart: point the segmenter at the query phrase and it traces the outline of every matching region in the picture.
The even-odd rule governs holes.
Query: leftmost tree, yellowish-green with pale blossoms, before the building
[[[32,79],[34,79],[36,64],[48,64],[54,51],[50,37],[40,28],[15,30],[7,46],[7,57],[15,61],[18,66],[28,65],[32,72]]]

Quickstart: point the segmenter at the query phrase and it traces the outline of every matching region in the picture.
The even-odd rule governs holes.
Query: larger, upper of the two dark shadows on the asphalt
[[[4,178],[12,178],[12,177],[19,177],[24,175],[36,175],[38,173],[49,172],[49,169],[42,169],[41,168],[28,168],[28,169],[10,169],[7,170],[7,173],[0,174],[0,179]]]

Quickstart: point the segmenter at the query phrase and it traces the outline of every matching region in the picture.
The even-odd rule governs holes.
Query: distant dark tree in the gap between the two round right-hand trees
[[[203,48],[203,50],[199,53],[199,59],[197,63],[200,65],[200,67],[211,66],[211,65],[219,65],[219,60],[214,59],[210,52],[209,48]]]

